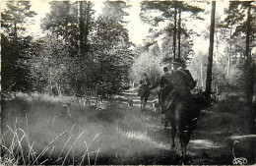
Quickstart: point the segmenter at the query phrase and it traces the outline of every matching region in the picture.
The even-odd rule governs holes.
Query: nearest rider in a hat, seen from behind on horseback
[[[191,90],[196,86],[196,82],[192,78],[190,72],[184,69],[183,63],[181,59],[176,58],[172,62],[173,64],[173,72],[170,76],[170,83],[169,87],[163,90],[162,93],[168,94],[168,96],[163,96],[164,101],[169,98],[170,102],[165,105],[163,108],[162,106],[162,114],[166,113],[166,110],[173,104],[174,100],[182,100],[185,102],[189,102],[190,98],[192,97]],[[164,102],[163,101],[163,102]],[[163,105],[163,103],[162,103]]]

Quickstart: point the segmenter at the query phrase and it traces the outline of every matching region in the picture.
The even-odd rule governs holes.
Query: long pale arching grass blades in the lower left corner
[[[16,127],[16,125],[15,125],[15,127]],[[63,159],[63,157],[60,157],[60,156],[61,156],[61,153],[63,152],[63,149],[68,144],[68,141],[71,139],[71,137],[69,137],[68,140],[66,141],[65,145],[63,146],[62,151],[60,152],[59,156],[57,157],[57,160],[53,161],[51,159],[51,157],[52,157],[51,155],[55,149],[55,146],[54,145],[51,146],[51,144],[58,141],[64,135],[67,135],[69,131],[65,131],[65,132],[61,133],[56,138],[52,139],[43,149],[38,151],[38,150],[33,149],[35,140],[32,141],[32,143],[31,143],[29,136],[25,133],[24,130],[17,129],[17,128],[12,129],[9,126],[8,126],[8,129],[9,130],[4,135],[1,135],[1,140],[2,140],[1,160],[0,160],[1,165],[21,165],[21,164],[23,164],[23,165],[38,165],[38,164],[41,165],[41,164],[45,164],[45,163],[54,163],[54,162],[55,163],[61,162],[62,165],[64,165],[64,164],[66,164],[65,161],[68,158],[69,153],[72,150],[74,144],[84,134],[84,132],[81,133],[79,135],[79,137],[77,137],[72,142],[71,147],[69,148],[68,152],[66,152],[65,157]],[[19,133],[19,131],[21,133]],[[7,136],[8,132],[11,135]],[[99,136],[99,134],[96,135],[95,138],[97,138],[98,136]],[[10,143],[6,142],[6,140],[5,140],[6,138],[11,140]],[[91,142],[91,144],[93,143],[93,141]],[[84,154],[88,154],[88,161],[89,161],[89,165],[90,165],[89,148],[86,149]],[[98,154],[98,150],[96,153],[96,157],[97,157],[97,154]],[[73,151],[73,158],[74,158],[74,151]],[[74,164],[80,163],[80,165],[81,165],[84,162],[85,156],[83,155],[80,158],[82,158],[81,161],[77,161],[77,163],[75,163],[74,159],[73,159]]]

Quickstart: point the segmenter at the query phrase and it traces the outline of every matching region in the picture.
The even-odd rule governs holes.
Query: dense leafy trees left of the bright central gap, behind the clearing
[[[47,35],[34,39],[24,35],[26,21],[35,15],[30,2],[8,2],[2,14],[3,91],[78,96],[119,91],[133,57],[122,19],[127,6],[105,4],[95,18],[91,2],[51,2],[41,24]]]

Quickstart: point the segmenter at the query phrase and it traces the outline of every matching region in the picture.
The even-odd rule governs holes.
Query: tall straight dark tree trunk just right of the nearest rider
[[[209,45],[207,78],[206,78],[206,93],[209,97],[211,96],[211,88],[212,88],[213,54],[214,54],[214,41],[215,41],[215,11],[216,11],[216,1],[212,1],[210,45]]]

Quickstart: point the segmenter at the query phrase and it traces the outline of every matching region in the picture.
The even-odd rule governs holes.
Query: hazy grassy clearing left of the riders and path
[[[167,148],[149,138],[158,116],[112,103],[83,110],[71,98],[23,95],[2,102],[2,163],[122,164]],[[70,102],[72,117],[60,116]],[[157,149],[157,150],[156,150]]]

